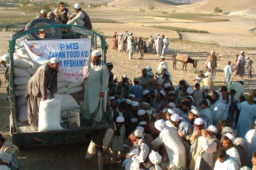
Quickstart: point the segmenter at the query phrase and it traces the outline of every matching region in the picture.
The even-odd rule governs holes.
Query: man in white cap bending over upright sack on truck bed
[[[47,89],[50,90],[51,98],[57,93],[58,68],[59,59],[53,57],[49,63],[41,65],[28,81],[25,97],[28,101],[28,123],[33,131],[37,130],[39,104],[41,100],[47,100]]]

